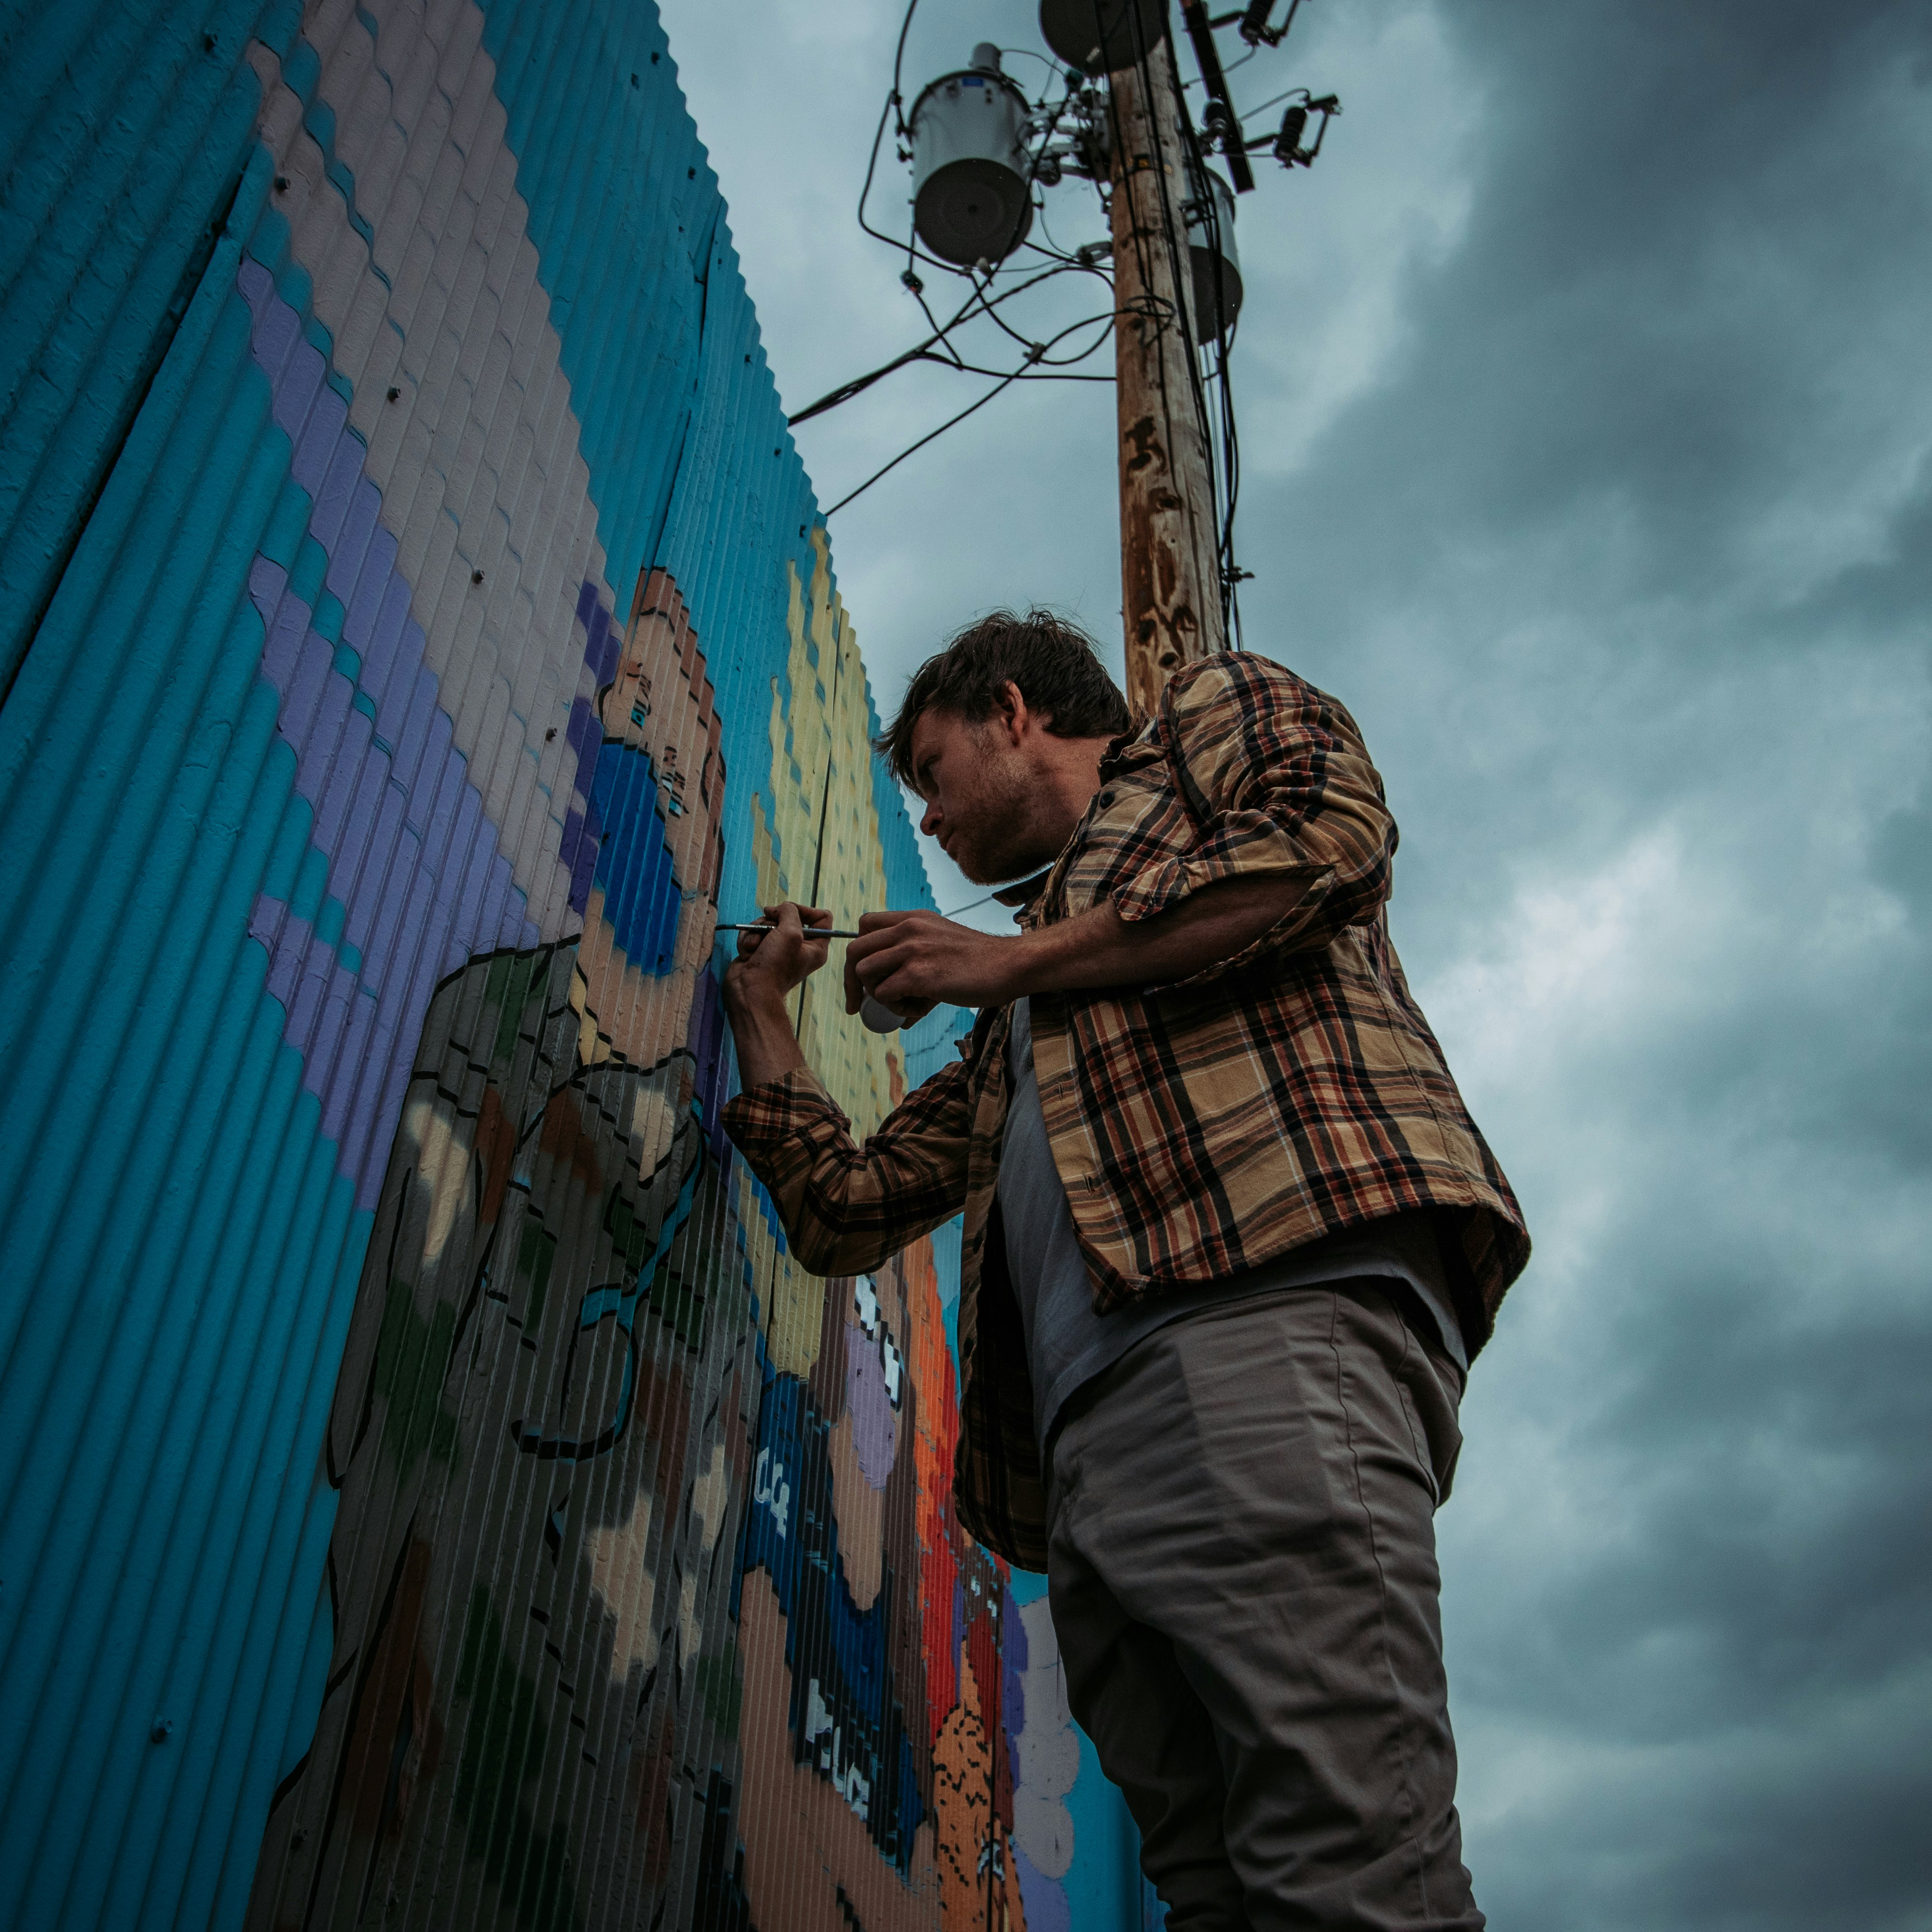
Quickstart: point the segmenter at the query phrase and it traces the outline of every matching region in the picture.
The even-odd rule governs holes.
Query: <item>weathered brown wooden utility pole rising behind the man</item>
[[[1128,703],[1151,711],[1180,665],[1225,649],[1227,638],[1208,431],[1190,367],[1188,176],[1167,39],[1144,68],[1117,68],[1109,83],[1121,616]]]

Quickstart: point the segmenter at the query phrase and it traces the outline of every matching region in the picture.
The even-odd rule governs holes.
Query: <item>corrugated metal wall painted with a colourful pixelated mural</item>
[[[956,1231],[719,1132],[929,900],[655,12],[8,0],[0,429],[8,1922],[1138,1924]]]

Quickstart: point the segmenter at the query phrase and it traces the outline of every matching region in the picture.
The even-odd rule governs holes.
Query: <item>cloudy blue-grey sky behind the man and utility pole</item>
[[[852,220],[898,8],[665,14],[796,410],[918,332]],[[929,0],[908,83],[981,37],[1041,44]],[[1368,732],[1538,1242],[1441,1519],[1478,1895],[1924,1932],[1932,8],[1310,0],[1236,97],[1296,83],[1345,114],[1240,205],[1246,636]],[[804,425],[821,500],[978,388]],[[881,711],[995,603],[1119,659],[1111,408],[1012,390],[833,520]]]

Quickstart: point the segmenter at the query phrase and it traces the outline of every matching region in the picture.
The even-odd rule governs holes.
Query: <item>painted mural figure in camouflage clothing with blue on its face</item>
[[[582,937],[473,960],[423,1028],[328,1430],[328,1692],[255,1924],[379,1893],[412,1922],[630,1924],[705,1888],[674,1845],[732,1839],[728,1777],[680,1779],[736,1727],[759,1387],[699,1095],[724,773],[661,572],[597,724]],[[464,1899],[412,1891],[439,1835]]]

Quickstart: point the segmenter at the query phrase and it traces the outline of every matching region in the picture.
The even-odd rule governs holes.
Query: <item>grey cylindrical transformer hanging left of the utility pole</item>
[[[912,226],[941,259],[970,269],[1005,261],[1034,226],[1026,97],[981,43],[974,64],[943,73],[906,116],[912,133]]]

